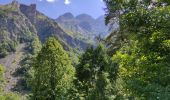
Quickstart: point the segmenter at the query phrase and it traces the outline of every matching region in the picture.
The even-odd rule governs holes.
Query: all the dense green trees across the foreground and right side
[[[105,23],[116,30],[81,52],[55,36],[32,39],[16,73],[27,95],[3,90],[0,65],[0,100],[170,100],[170,0],[104,2]],[[16,45],[1,43],[0,56]]]

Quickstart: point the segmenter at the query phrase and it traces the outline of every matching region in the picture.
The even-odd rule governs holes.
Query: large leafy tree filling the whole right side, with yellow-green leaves
[[[109,5],[108,16],[121,11],[118,34],[124,40],[113,55],[113,61],[119,65],[119,84],[123,87],[119,90],[131,99],[169,100],[169,0],[105,1]],[[111,3],[119,5],[116,8]]]

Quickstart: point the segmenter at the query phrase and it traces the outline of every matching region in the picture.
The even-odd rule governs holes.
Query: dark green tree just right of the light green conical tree
[[[80,57],[76,69],[80,82],[78,90],[82,97],[87,100],[107,100],[114,95],[110,78],[113,68],[104,46],[88,48]]]

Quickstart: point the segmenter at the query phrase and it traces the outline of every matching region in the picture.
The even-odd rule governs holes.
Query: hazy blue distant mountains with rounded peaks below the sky
[[[74,16],[72,13],[65,13],[56,19],[56,22],[64,29],[72,31],[77,35],[82,35],[86,39],[93,40],[94,37],[106,36],[108,27],[105,25],[104,16],[94,19],[88,14]]]

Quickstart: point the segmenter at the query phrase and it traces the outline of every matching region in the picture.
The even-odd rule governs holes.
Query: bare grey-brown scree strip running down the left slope
[[[4,65],[5,68],[5,79],[6,84],[4,86],[5,92],[10,92],[15,89],[15,85],[20,80],[21,77],[15,76],[15,71],[20,67],[20,61],[23,58],[23,55],[25,53],[24,51],[25,44],[21,44],[17,46],[16,52],[11,53],[7,57],[0,59],[0,63]]]

